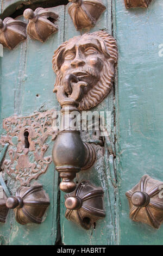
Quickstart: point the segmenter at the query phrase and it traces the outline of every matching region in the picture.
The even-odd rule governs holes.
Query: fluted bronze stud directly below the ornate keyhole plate
[[[16,221],[22,225],[40,224],[49,204],[49,197],[42,185],[20,187],[15,197],[9,197],[6,202],[9,209],[14,209]]]

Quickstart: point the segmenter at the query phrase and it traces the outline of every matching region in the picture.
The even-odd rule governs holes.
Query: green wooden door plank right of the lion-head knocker
[[[119,176],[119,243],[162,245],[158,230],[129,219],[124,193],[148,174],[162,181],[163,3],[126,10],[114,1],[114,35],[118,44],[116,81],[116,159]]]

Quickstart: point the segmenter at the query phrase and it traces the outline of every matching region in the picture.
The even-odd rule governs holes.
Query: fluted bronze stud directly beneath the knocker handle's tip
[[[80,182],[76,190],[65,196],[67,220],[90,229],[91,225],[105,217],[103,193],[101,187],[95,187],[89,181]]]

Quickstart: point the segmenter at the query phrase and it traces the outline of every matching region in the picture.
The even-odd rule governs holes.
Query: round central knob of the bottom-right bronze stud
[[[131,202],[137,207],[143,207],[149,204],[149,195],[145,192],[136,191],[131,196]]]

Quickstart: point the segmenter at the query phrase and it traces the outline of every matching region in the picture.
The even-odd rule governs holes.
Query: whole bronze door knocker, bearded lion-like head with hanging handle
[[[71,126],[71,113],[95,107],[104,99],[112,87],[116,61],[115,39],[103,31],[76,36],[54,53],[54,92],[62,107],[62,120],[52,155],[64,192],[74,190],[76,173],[90,168],[96,159],[92,145],[84,143]]]

